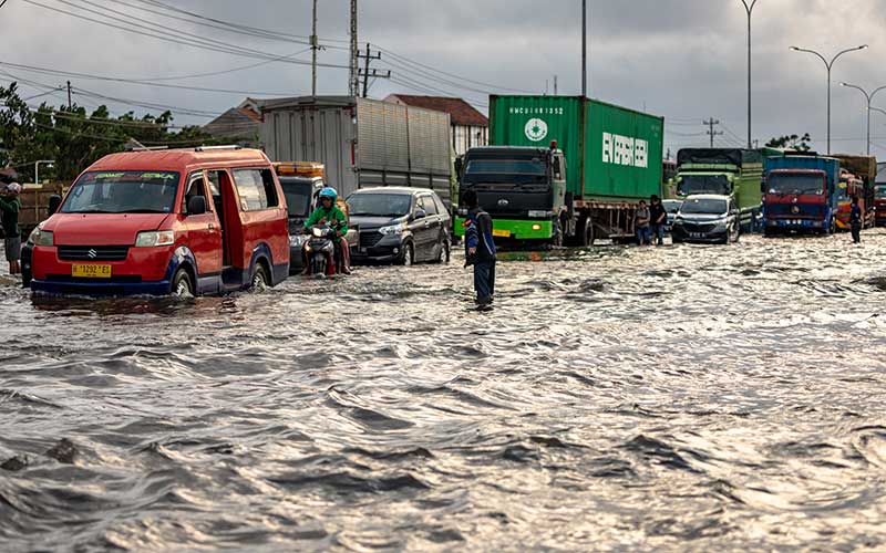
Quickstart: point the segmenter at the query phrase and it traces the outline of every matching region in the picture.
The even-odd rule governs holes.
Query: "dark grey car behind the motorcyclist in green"
[[[452,218],[443,201],[425,188],[369,188],[348,197],[359,243],[354,262],[411,265],[450,260]]]

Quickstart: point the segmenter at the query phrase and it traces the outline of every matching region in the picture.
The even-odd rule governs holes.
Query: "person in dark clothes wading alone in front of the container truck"
[[[474,291],[481,310],[490,309],[495,300],[495,242],[492,238],[492,218],[477,202],[477,192],[462,195],[467,208],[464,247],[465,267],[474,265]]]

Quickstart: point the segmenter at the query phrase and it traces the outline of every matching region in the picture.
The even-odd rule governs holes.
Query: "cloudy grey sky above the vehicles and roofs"
[[[327,46],[320,61],[331,65],[319,70],[319,93],[343,94],[348,71],[338,66],[348,62],[349,1],[318,3],[318,34]],[[580,93],[580,4],[360,0],[360,42],[383,49],[372,66],[393,75],[375,81],[370,95],[460,95],[485,111],[491,92],[544,93],[547,87],[553,93],[554,75],[560,94]],[[701,122],[708,117],[722,123],[719,129],[725,134],[717,137],[718,145],[745,140],[746,14],[741,0],[588,4],[594,97],[664,116],[667,146],[673,150],[707,144]],[[247,93],[310,93],[308,65],[272,61],[296,53],[295,60],[310,60],[305,44],[310,14],[310,0],[7,0],[0,8],[0,63],[6,64],[0,80],[30,82],[22,85],[25,97],[45,93],[33,104],[66,102],[51,87],[70,79],[74,101],[82,105],[104,103],[115,114],[174,106],[178,123],[205,123]],[[864,96],[839,82],[868,90],[886,85],[885,14],[886,0],[759,0],[753,13],[753,137],[765,142],[808,132],[814,147],[824,152],[824,64],[789,46],[830,58],[869,44],[841,58],[833,72],[833,150],[864,152]],[[227,23],[250,29],[233,32]],[[205,48],[195,48],[197,41]],[[84,76],[53,73],[59,70]],[[203,76],[189,76],[195,74]],[[886,91],[880,94],[874,105],[886,108]],[[873,152],[886,157],[886,115],[874,113],[872,128]]]

